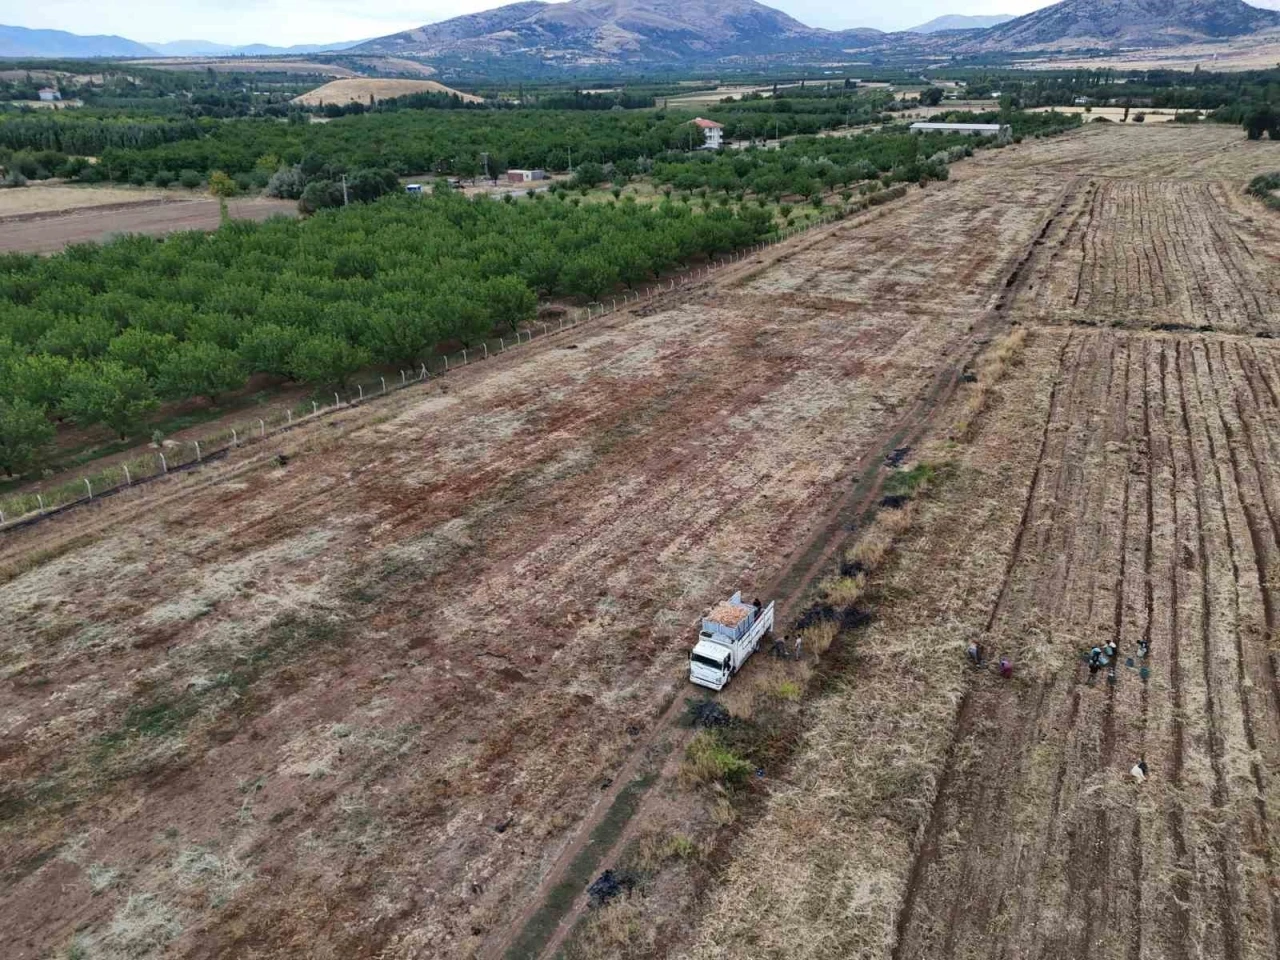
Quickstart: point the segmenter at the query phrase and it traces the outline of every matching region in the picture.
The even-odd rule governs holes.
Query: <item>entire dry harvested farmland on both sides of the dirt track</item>
[[[9,955],[1274,956],[1268,146],[984,151],[0,534]],[[805,655],[700,726],[737,589]]]

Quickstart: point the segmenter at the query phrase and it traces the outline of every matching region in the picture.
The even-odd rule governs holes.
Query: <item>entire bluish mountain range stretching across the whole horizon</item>
[[[1275,0],[1260,0],[1275,1]],[[947,15],[884,33],[809,27],[756,0],[521,0],[375,40],[275,47],[200,40],[137,44],[0,27],[0,56],[264,56],[346,51],[504,65],[726,65],[919,55],[1167,47],[1280,31],[1280,12],[1243,0],[1061,0],[1023,17]],[[803,59],[801,59],[803,58]]]

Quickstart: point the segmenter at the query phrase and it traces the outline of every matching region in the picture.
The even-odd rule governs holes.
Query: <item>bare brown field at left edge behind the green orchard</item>
[[[243,220],[298,215],[297,204],[291,200],[252,197],[228,201],[227,207],[232,218]],[[52,253],[69,243],[101,242],[122,233],[163,236],[174,230],[215,230],[219,223],[218,201],[209,197],[143,200],[102,210],[81,207],[0,221],[0,253]]]

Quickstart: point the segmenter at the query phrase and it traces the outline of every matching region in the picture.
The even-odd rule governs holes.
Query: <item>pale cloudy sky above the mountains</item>
[[[813,27],[902,29],[945,13],[1020,14],[1048,0],[773,0]],[[1280,0],[1253,0],[1280,9]],[[332,44],[394,33],[502,5],[502,0],[0,0],[0,23],[116,33],[141,42]],[[838,9],[837,9],[838,8]]]

